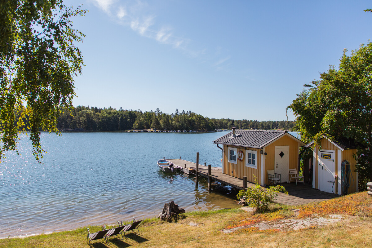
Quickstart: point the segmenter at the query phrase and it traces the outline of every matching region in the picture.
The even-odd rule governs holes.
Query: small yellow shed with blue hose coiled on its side
[[[320,142],[321,150],[314,141],[306,145],[313,148],[312,187],[335,194],[357,192],[358,173],[353,157],[357,152],[356,142],[350,139],[331,141],[326,136]]]

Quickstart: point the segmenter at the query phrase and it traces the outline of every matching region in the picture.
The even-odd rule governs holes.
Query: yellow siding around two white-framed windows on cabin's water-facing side
[[[230,163],[228,161],[228,147],[230,148],[237,148],[238,152],[242,151],[244,152],[244,159],[243,161],[237,160],[237,164]],[[248,182],[254,183],[254,177],[255,175],[257,177],[258,183],[260,183],[261,178],[261,154],[260,149],[251,149],[251,148],[245,148],[241,146],[235,146],[235,145],[223,145],[224,149],[224,174],[231,175],[232,177],[237,177],[240,179],[243,179],[243,177],[247,177]],[[246,150],[253,150],[257,151],[257,169],[250,168],[246,166]]]

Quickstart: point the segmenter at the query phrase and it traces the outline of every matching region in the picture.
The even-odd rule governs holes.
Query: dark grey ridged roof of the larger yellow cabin
[[[213,143],[224,144],[224,145],[238,145],[250,148],[262,149],[270,142],[280,138],[282,135],[290,135],[291,138],[298,140],[301,144],[305,144],[301,140],[297,139],[295,136],[289,134],[284,130],[245,130],[238,129],[235,131],[235,137],[232,138],[232,132],[227,135],[216,139]]]

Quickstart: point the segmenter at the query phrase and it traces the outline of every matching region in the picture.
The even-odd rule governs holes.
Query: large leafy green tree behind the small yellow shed
[[[320,80],[304,85],[307,88],[287,110],[295,114],[296,126],[305,141],[315,139],[319,143],[325,134],[331,139],[345,137],[359,142],[359,175],[371,180],[372,44],[361,44],[350,56],[346,52],[344,49],[339,70],[330,67],[320,74]]]

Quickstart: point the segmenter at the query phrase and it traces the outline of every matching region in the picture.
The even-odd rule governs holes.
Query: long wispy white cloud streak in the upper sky
[[[195,48],[195,42],[192,40],[175,36],[174,30],[170,25],[159,26],[156,23],[155,13],[149,13],[149,4],[140,0],[90,0],[95,6],[111,16],[114,20],[123,26],[131,28],[138,35],[154,39],[160,44],[170,45],[174,49],[182,51],[187,57],[198,58],[203,62],[209,63],[216,70],[221,70],[226,66],[226,61],[230,56],[224,58],[221,54],[221,48],[216,48],[214,54],[210,54],[211,58],[207,58],[206,48]],[[200,44],[199,44],[200,45]],[[209,50],[209,53],[211,51]],[[213,52],[212,52],[213,53]]]

